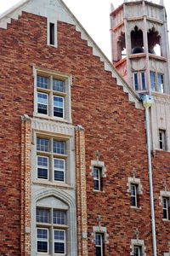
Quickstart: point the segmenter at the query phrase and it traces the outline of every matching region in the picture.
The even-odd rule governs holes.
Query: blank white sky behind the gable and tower
[[[0,14],[19,2],[20,0],[0,0]],[[99,45],[99,48],[111,60],[111,3],[117,7],[122,4],[123,0],[64,0],[64,2],[95,43]],[[159,0],[152,2],[159,3]],[[168,27],[170,27],[170,1],[164,0],[164,4],[167,9]]]

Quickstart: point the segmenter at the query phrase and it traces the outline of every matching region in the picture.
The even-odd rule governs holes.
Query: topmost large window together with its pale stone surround
[[[71,123],[71,75],[38,67],[33,67],[33,75],[34,116]]]

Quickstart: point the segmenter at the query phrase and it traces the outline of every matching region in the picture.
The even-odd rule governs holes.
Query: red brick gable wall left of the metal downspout
[[[47,46],[46,29],[45,18],[26,13],[13,20],[8,30],[0,29],[1,253],[20,255],[20,115],[33,113],[31,65],[35,64],[73,75],[73,123],[82,125],[86,134],[89,256],[94,256],[91,233],[98,214],[110,236],[107,255],[129,255],[137,227],[147,255],[152,255],[144,111],[128,102],[75,26],[58,22],[57,49]],[[101,193],[93,192],[89,175],[96,150],[107,168]],[[130,208],[127,193],[133,168],[144,188],[140,210]]]

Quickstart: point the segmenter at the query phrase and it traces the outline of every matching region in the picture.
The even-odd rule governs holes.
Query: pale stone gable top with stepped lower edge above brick
[[[133,89],[126,83],[122,76],[113,67],[111,61],[105,56],[99,46],[89,36],[88,32],[83,28],[77,18],[71,13],[71,10],[62,0],[22,0],[11,9],[8,9],[3,15],[0,15],[0,27],[7,29],[7,24],[11,19],[17,20],[22,11],[34,15],[47,17],[48,20],[54,22],[56,20],[75,25],[78,32],[81,32],[81,38],[88,41],[88,46],[93,48],[93,54],[99,56],[100,61],[104,62],[105,70],[110,71],[112,77],[116,79],[117,85],[122,86],[123,90],[128,94],[130,102],[134,102],[136,108],[142,108],[139,97]]]

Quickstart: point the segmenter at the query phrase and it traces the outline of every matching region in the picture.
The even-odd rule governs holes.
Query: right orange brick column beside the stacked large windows
[[[77,125],[76,127],[76,169],[78,255],[88,256],[85,132],[81,125]]]

